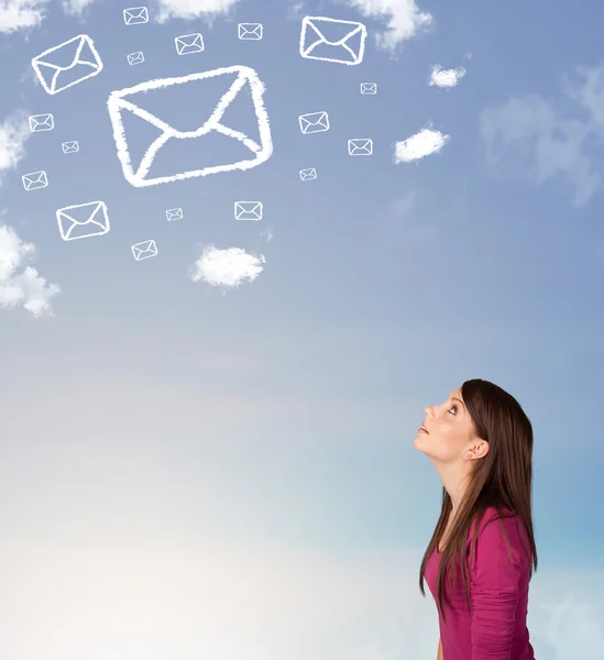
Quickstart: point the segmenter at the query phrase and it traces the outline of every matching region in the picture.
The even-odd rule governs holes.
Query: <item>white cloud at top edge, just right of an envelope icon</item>
[[[416,0],[347,0],[362,14],[387,21],[387,30],[376,35],[377,45],[394,51],[402,42],[433,24],[430,13],[420,11]]]

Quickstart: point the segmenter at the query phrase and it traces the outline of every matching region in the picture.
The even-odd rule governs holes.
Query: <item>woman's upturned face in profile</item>
[[[461,398],[461,387],[446,402],[425,410],[424,427],[428,433],[418,432],[414,446],[429,459],[439,463],[454,463],[473,447],[474,424]]]

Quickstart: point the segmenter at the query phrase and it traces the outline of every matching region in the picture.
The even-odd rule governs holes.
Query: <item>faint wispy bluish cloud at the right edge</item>
[[[582,207],[602,188],[602,158],[591,150],[604,138],[604,64],[576,73],[579,85],[567,79],[562,87],[578,106],[576,117],[532,94],[485,109],[480,127],[491,166],[505,166],[506,155],[519,156],[512,162],[515,174],[537,185],[562,176],[574,190],[573,205]]]

